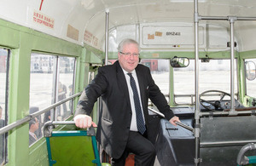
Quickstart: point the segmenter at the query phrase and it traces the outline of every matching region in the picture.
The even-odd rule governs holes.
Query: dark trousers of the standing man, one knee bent
[[[135,154],[136,166],[154,165],[154,159],[156,155],[154,145],[143,135],[134,131],[130,131],[127,146],[122,157],[112,158],[112,165],[125,166],[125,159],[130,152]]]

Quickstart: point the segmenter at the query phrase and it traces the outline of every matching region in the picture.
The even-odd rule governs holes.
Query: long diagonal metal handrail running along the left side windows
[[[38,112],[29,114],[26,117],[24,117],[20,120],[17,120],[14,123],[10,123],[7,126],[4,126],[3,128],[0,129],[0,135],[3,135],[4,133],[9,132],[9,130],[11,130],[11,129],[15,129],[16,127],[20,126],[21,124],[29,122],[30,120],[32,120],[33,117],[37,117],[38,115],[48,112],[49,110],[55,108],[56,106],[60,106],[61,104],[67,102],[68,100],[72,100],[73,98],[75,98],[81,94],[82,94],[82,92],[79,92],[78,94],[73,94],[72,96],[70,96],[64,100],[60,100],[60,101],[56,102],[55,104],[53,104],[47,108],[44,108],[43,110],[39,110]]]

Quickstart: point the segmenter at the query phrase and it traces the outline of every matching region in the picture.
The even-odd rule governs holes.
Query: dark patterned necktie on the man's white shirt
[[[133,91],[133,99],[136,110],[136,119],[137,119],[137,129],[143,135],[146,131],[145,123],[143,120],[143,112],[140,105],[140,99],[137,93],[137,87],[134,78],[131,76],[131,73],[128,73],[130,76],[131,89]]]

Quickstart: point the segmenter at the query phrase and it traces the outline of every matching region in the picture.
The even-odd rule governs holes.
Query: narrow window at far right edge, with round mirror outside
[[[256,64],[256,59],[245,60],[245,64],[252,64],[252,63]],[[251,69],[249,69],[249,67],[251,67]],[[252,76],[253,73],[255,75],[255,68],[253,68],[253,66],[246,65],[246,71],[247,71],[247,73],[246,73],[247,76],[248,76],[248,72],[250,72],[250,76]],[[251,97],[256,97],[255,90],[256,90],[256,79],[253,79],[252,77],[247,77],[247,79],[246,79],[247,95],[249,95]]]

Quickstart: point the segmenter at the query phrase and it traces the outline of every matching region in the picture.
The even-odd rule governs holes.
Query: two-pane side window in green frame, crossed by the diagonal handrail
[[[74,63],[75,58],[32,53],[30,114],[38,112],[55,102],[64,100],[73,95]],[[56,80],[58,80],[58,82],[56,82]],[[55,113],[53,109],[49,112],[45,112],[42,116],[32,119],[29,123],[30,145],[43,136],[42,127],[44,123],[53,118],[54,115],[56,120],[64,120],[69,117],[72,112],[73,100],[69,100],[61,104],[61,106],[57,106]]]

